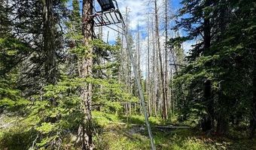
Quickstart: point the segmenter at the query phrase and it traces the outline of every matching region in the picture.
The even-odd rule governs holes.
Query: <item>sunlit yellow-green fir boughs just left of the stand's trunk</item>
[[[55,86],[45,86],[44,95],[33,96],[34,101],[27,104],[27,115],[21,123],[26,124],[28,130],[35,129],[33,132],[40,135],[34,141],[37,148],[59,146],[57,141],[64,138],[66,132],[72,133],[78,129],[83,115],[76,90],[81,84],[81,79],[63,77],[62,82]]]

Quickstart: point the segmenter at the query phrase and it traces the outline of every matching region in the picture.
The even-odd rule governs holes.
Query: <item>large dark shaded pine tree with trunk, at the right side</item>
[[[245,62],[253,64],[254,59],[245,51],[250,45],[247,41],[254,42],[248,40],[249,37],[254,36],[254,33],[242,28],[250,28],[248,20],[253,20],[250,7],[254,3],[251,1],[183,1],[182,3],[185,7],[181,8],[180,17],[187,13],[190,17],[181,17],[178,26],[188,31],[188,39],[200,38],[200,40],[190,51],[188,56],[190,64],[181,71],[176,81],[185,80],[189,83],[185,93],[187,93],[187,106],[194,107],[194,111],[190,114],[203,116],[205,130],[212,129],[214,121],[217,121],[216,131],[222,134],[228,130],[228,118],[231,116],[241,118],[239,113],[246,114],[239,107],[248,107],[245,101],[251,100],[249,97],[241,97],[241,94],[253,95],[252,91],[245,90],[248,86],[242,85],[253,83],[251,71],[254,70],[245,69],[253,67]],[[245,3],[248,5],[241,5]],[[248,38],[242,40],[241,34],[246,34]],[[206,82],[204,88],[202,88],[203,81]],[[236,86],[231,86],[233,84]],[[213,85],[217,86],[214,88]],[[251,127],[253,128],[253,125]]]

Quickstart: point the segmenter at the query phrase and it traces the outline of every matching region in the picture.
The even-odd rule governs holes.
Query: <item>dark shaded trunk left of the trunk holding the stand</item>
[[[43,0],[44,5],[44,52],[45,75],[47,83],[56,83],[55,23],[53,18],[53,0]]]

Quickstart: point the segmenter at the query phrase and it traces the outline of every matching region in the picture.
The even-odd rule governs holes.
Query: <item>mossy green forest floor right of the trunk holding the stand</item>
[[[150,149],[148,131],[144,117],[130,117],[93,112],[99,127],[95,137],[97,149],[140,150]],[[195,127],[170,125],[160,118],[150,118],[154,141],[159,150],[219,150],[219,149],[256,149],[256,139],[248,139],[233,131],[230,136],[212,136],[200,132]]]

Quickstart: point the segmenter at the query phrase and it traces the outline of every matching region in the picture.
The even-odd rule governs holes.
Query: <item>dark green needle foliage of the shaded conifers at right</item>
[[[189,64],[172,83],[179,115],[193,124],[206,115],[212,115],[218,124],[220,118],[230,121],[233,117],[248,122],[254,76],[255,3],[184,0],[181,4],[184,7],[179,10],[177,17],[181,18],[176,28],[184,28],[187,37],[171,39],[169,45],[191,39],[197,43],[187,56]],[[212,83],[211,104],[204,98],[206,80]],[[214,107],[213,114],[209,114],[209,105]]]

